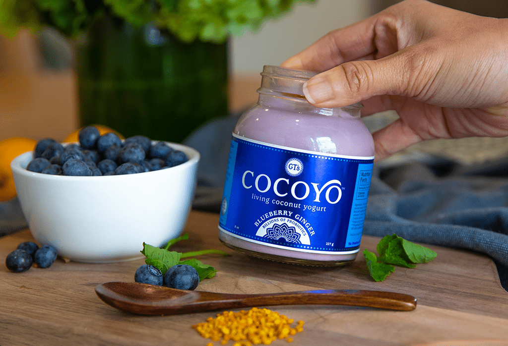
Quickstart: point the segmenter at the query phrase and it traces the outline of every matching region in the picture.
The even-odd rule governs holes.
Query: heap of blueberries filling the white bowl
[[[26,169],[59,176],[113,176],[173,167],[188,160],[182,151],[165,142],[152,145],[143,135],[122,141],[113,132],[101,135],[96,127],[86,126],[78,137],[79,145],[65,147],[49,138],[39,141]]]

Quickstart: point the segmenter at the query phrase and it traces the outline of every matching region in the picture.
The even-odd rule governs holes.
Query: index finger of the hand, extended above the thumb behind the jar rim
[[[377,16],[372,16],[330,31],[300,53],[284,61],[281,66],[323,72],[346,61],[373,57],[377,51],[376,21]]]

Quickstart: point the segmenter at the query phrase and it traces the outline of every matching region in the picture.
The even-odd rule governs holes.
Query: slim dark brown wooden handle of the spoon
[[[417,305],[417,299],[407,294],[364,290],[315,290],[250,295],[225,294],[221,298],[224,301],[220,303],[220,308],[318,304],[365,306],[410,311],[414,310]]]

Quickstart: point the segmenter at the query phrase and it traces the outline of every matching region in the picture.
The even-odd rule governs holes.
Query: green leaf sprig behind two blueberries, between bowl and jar
[[[181,260],[182,258],[195,257],[201,255],[208,254],[216,254],[222,256],[229,256],[228,253],[221,250],[200,250],[200,251],[190,251],[190,252],[176,252],[169,251],[168,249],[177,243],[180,240],[188,239],[188,235],[184,234],[179,236],[178,238],[171,239],[168,244],[164,248],[157,248],[148,244],[143,243],[143,250],[141,253],[145,255],[145,263],[149,265],[153,265],[158,270],[162,272],[163,275],[166,274],[169,268],[177,264],[188,264],[193,266],[199,274],[199,281],[201,282],[203,279],[213,278],[217,270],[208,264],[203,264],[201,261],[190,258],[187,260]]]

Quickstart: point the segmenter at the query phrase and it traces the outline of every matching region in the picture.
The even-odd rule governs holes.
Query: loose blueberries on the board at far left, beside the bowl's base
[[[5,265],[10,271],[20,273],[30,269],[32,264],[49,268],[55,260],[56,250],[53,247],[44,245],[39,248],[33,241],[25,241],[7,255]]]

